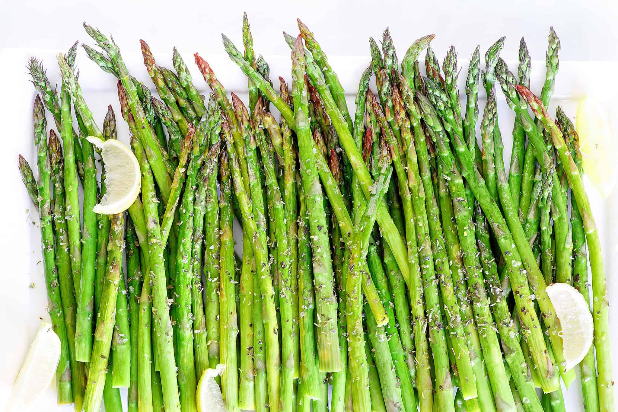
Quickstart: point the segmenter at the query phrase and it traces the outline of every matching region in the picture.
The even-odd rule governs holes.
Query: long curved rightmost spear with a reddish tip
[[[592,269],[593,320],[595,322],[595,350],[598,359],[597,387],[599,392],[599,408],[600,410],[611,410],[614,405],[614,392],[611,387],[611,362],[607,360],[609,359],[610,352],[609,338],[607,338],[609,320],[607,314],[606,280],[603,272],[603,257],[601,256],[599,235],[590,209],[590,201],[583,189],[579,169],[565,145],[564,137],[549,117],[543,102],[523,86],[516,86],[516,89],[520,96],[530,105],[535,116],[541,119],[543,127],[550,134],[554,148],[556,148],[556,152],[564,167],[572,195],[575,196],[577,211],[582,216]],[[538,140],[533,140],[532,142],[535,145],[535,151],[538,152],[542,149],[538,144],[540,143]],[[560,359],[557,358],[556,360],[559,361]]]

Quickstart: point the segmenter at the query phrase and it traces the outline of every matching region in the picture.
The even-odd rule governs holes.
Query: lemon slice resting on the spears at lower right
[[[546,289],[562,327],[565,368],[580,363],[592,345],[594,326],[590,306],[569,284],[552,284]]]

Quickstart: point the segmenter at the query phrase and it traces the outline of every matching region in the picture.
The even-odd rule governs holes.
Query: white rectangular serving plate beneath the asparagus
[[[241,44],[239,39],[234,41]],[[92,42],[88,42],[89,44]],[[132,75],[152,86],[150,78],[143,66],[142,56],[139,53],[137,39],[135,44],[120,44],[124,51],[123,56]],[[156,50],[156,44],[151,44]],[[192,50],[179,48],[185,62],[193,74],[193,82],[201,93],[210,92],[203,82],[197,67],[193,63]],[[50,51],[41,49],[4,49],[0,51],[0,78],[2,78],[2,99],[0,99],[0,117],[2,122],[2,144],[0,151],[0,170],[3,178],[3,195],[0,201],[0,216],[4,217],[3,230],[0,233],[0,256],[4,264],[4,276],[0,289],[0,317],[2,330],[6,337],[0,341],[2,368],[0,371],[0,408],[4,410],[11,391],[12,382],[19,371],[20,364],[28,346],[40,326],[40,318],[48,319],[46,314],[46,292],[41,263],[40,230],[38,214],[23,188],[17,169],[17,154],[22,154],[36,170],[36,149],[32,138],[32,104],[35,90],[28,82],[25,65],[30,56],[36,56],[43,61],[52,84],[59,83],[56,56],[66,51]],[[286,51],[287,53],[287,51]],[[404,49],[400,50],[402,56]],[[461,51],[460,56],[468,56],[472,51]],[[159,64],[172,67],[171,53],[155,53]],[[213,67],[219,80],[226,86],[227,91],[235,91],[240,98],[247,101],[247,80],[240,69],[225,55],[203,55]],[[444,57],[439,54],[439,59]],[[540,57],[540,56],[533,56]],[[277,76],[286,78],[289,85],[290,60],[289,55],[265,56],[271,66],[271,78],[278,88]],[[339,78],[349,92],[348,103],[350,112],[353,112],[354,94],[358,86],[358,78],[369,63],[369,57],[331,57],[331,65],[336,69]],[[517,70],[517,62],[509,61],[513,72]],[[483,67],[484,62],[481,62]],[[128,128],[122,120],[116,92],[116,79],[104,73],[85,55],[82,49],[78,52],[77,67],[80,69],[80,84],[95,119],[103,122],[108,104],[114,107],[118,124],[119,140],[129,144]],[[467,59],[460,59],[459,90],[464,96],[464,80],[467,73]],[[535,60],[532,63],[531,90],[540,93],[544,81],[544,61]],[[555,107],[561,105],[564,111],[572,118],[575,116],[577,101],[585,95],[593,95],[603,103],[609,120],[614,128],[618,125],[618,80],[614,77],[618,73],[616,62],[561,62],[557,75],[556,93],[552,98],[549,112],[554,114]],[[598,77],[596,77],[598,76]],[[291,85],[290,85],[291,86]],[[155,93],[156,95],[156,93]],[[514,116],[506,106],[501,90],[496,91],[499,124],[502,137],[505,140],[504,158],[506,164],[510,162],[511,132]],[[480,90],[480,116],[485,106],[485,91]],[[272,105],[271,105],[272,106]],[[99,123],[99,125],[101,124]],[[480,122],[479,122],[480,124]],[[48,128],[55,128],[51,115],[48,113]],[[478,135],[478,133],[477,133]],[[508,166],[507,166],[508,167]],[[36,172],[35,172],[36,175]],[[588,185],[588,195],[599,227],[603,255],[607,275],[607,290],[610,303],[618,299],[618,282],[613,278],[618,265],[618,221],[614,217],[613,209],[618,204],[618,190],[608,199],[603,199]],[[239,228],[236,228],[237,235]],[[237,237],[240,238],[240,237]],[[239,242],[240,243],[240,242]],[[239,248],[239,245],[237,245]],[[237,249],[239,252],[240,250]],[[34,288],[28,285],[35,284]],[[611,319],[614,319],[614,310],[610,308]],[[616,333],[612,340],[612,353],[618,358],[618,338]],[[576,368],[577,369],[577,368]],[[579,372],[577,371],[577,374]],[[614,371],[617,374],[618,371]],[[123,401],[126,401],[126,391],[122,390]],[[583,411],[582,394],[579,379],[575,380],[568,391],[564,392],[565,403],[569,411]],[[51,385],[38,400],[33,410],[38,411],[70,411],[73,406],[56,406],[56,389]]]

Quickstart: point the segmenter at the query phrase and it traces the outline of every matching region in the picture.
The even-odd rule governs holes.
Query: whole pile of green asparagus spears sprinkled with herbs
[[[60,96],[32,58],[38,178],[22,156],[19,167],[40,211],[62,342],[59,404],[121,411],[126,387],[129,411],[204,410],[198,382],[222,364],[216,385],[229,411],[564,411],[561,380],[576,376],[546,292],[562,282],[588,304],[592,288],[585,408],[614,409],[606,280],[578,137],[560,107],[555,122],[546,111],[559,68],[553,29],[540,98],[528,89],[525,41],[517,80],[501,38],[484,70],[473,52],[463,107],[454,48],[440,67],[424,36],[399,64],[385,30],[381,48],[370,39],[352,116],[300,20],[300,34],[285,35],[291,95],[283,77],[274,90],[246,14],[243,53],[223,35],[247,75],[248,108],[199,54],[208,101],[176,48],[171,70],[142,40],[156,98],[111,38],[84,27],[102,50],[84,44],[88,57],[118,79],[141,193],[128,215],[93,211],[105,165],[98,182],[86,137],[115,139],[116,117],[109,106],[98,127],[75,74],[77,43],[58,56]],[[496,83],[516,114],[508,174]],[[47,140],[46,109],[60,139],[49,130]]]

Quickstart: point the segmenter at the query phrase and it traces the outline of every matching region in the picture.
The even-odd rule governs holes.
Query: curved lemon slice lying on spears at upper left
[[[140,193],[140,164],[133,152],[117,140],[103,141],[94,136],[88,136],[87,140],[101,149],[101,158],[105,164],[107,191],[93,211],[100,214],[122,213],[129,209]]]

